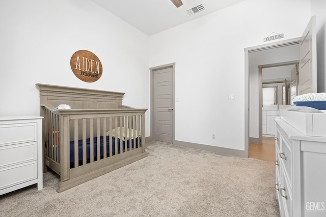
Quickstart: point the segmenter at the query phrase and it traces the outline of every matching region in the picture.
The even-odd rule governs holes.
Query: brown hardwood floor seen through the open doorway
[[[275,162],[275,138],[263,137],[263,143],[251,143],[249,158]]]

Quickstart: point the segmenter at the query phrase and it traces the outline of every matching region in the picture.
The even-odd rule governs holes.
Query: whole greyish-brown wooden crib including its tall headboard
[[[43,172],[60,175],[57,192],[147,156],[147,109],[122,106],[124,93],[36,85],[44,116]],[[71,109],[56,109],[61,104]]]

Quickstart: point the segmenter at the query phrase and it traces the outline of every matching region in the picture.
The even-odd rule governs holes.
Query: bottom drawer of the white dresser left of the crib
[[[0,169],[0,190],[37,178],[37,161]]]

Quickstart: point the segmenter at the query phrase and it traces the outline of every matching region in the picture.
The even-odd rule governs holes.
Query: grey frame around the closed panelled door
[[[151,67],[150,70],[150,140],[154,140],[154,71],[160,69],[172,68],[172,143],[175,142],[175,63]]]

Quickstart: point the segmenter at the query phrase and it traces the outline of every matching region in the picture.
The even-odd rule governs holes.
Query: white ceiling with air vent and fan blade
[[[176,8],[170,0],[92,1],[151,36],[244,0],[182,0],[183,5],[179,8]],[[199,5],[202,5],[204,10],[198,13],[194,13],[193,10],[187,12]]]

